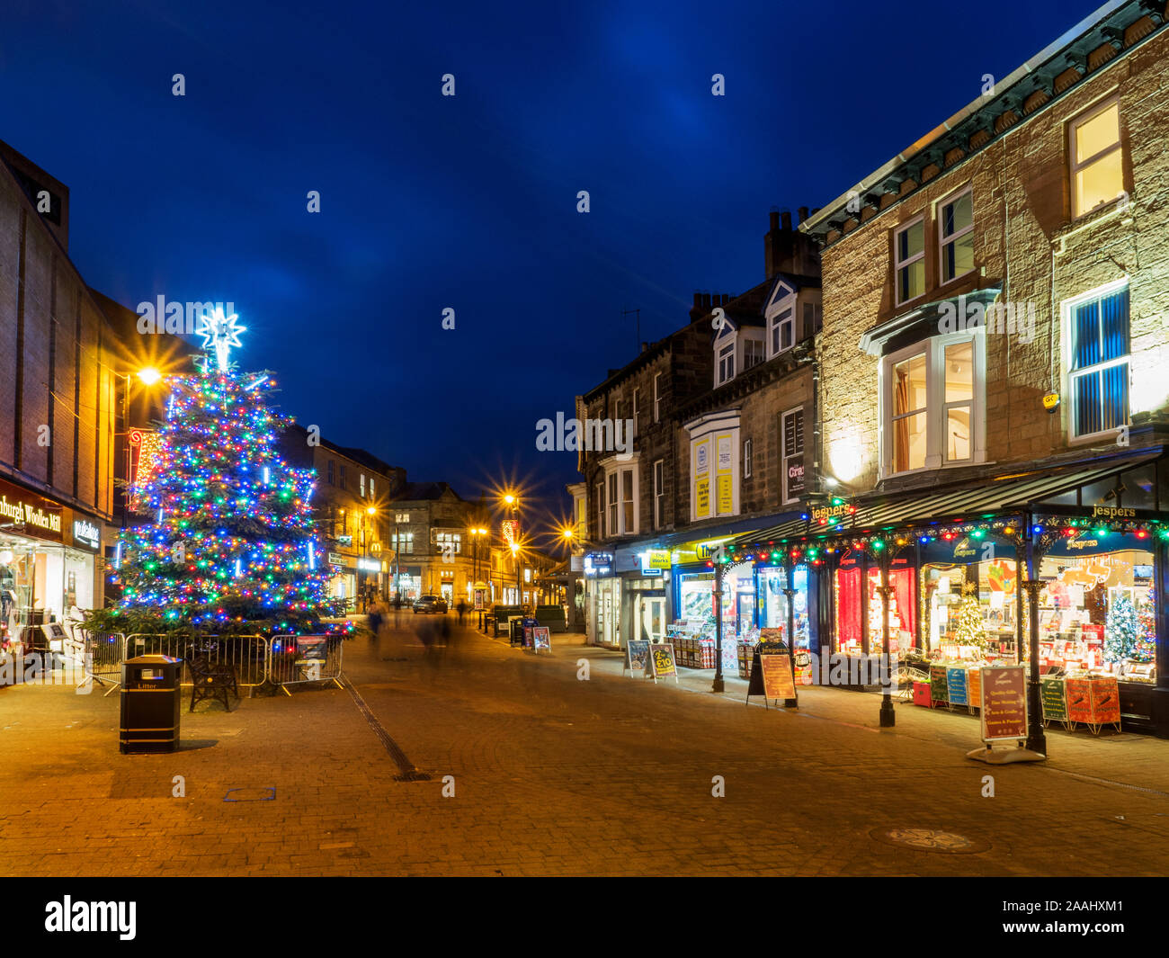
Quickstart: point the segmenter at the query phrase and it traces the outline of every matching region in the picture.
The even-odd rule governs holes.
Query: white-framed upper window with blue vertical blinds
[[[1129,292],[1120,280],[1063,304],[1068,439],[1112,435],[1129,421]]]

